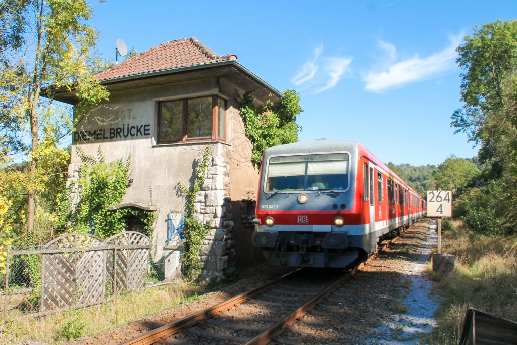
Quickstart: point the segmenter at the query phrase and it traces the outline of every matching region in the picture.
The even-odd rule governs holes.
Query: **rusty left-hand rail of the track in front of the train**
[[[234,297],[228,299],[227,301],[221,302],[214,306],[200,310],[200,311],[193,313],[183,319],[179,319],[177,321],[174,321],[174,322],[168,323],[166,325],[163,325],[161,327],[158,327],[149,333],[145,333],[139,337],[128,340],[128,341],[124,342],[123,344],[124,345],[154,344],[164,337],[170,337],[170,336],[178,333],[181,329],[183,329],[185,327],[188,327],[194,323],[200,322],[203,319],[206,319],[210,316],[214,316],[215,314],[217,314],[221,311],[230,309],[233,306],[241,304],[242,302],[246,301],[247,299],[255,296],[256,294],[269,290],[271,287],[275,286],[281,280],[287,278],[288,276],[295,274],[296,272],[299,272],[301,269],[302,268],[298,268],[295,271],[287,273],[278,279],[275,279],[266,284],[263,284],[260,287],[257,287],[253,290],[242,293],[240,295],[234,296]]]

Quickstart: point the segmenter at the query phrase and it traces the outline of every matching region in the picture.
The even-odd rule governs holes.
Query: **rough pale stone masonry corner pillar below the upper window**
[[[235,249],[231,221],[230,166],[222,156],[212,156],[207,176],[195,200],[195,217],[210,228],[201,246],[202,280],[224,278],[224,269],[233,265]]]

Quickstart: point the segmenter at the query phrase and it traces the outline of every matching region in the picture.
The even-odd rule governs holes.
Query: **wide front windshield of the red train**
[[[349,155],[273,156],[269,158],[266,192],[348,189]]]

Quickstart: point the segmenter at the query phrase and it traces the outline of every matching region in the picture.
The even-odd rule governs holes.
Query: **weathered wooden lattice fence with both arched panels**
[[[45,312],[101,303],[112,293],[142,290],[149,271],[149,249],[147,236],[126,231],[106,241],[90,234],[66,234],[41,249],[10,250],[9,254],[41,255],[40,312]]]

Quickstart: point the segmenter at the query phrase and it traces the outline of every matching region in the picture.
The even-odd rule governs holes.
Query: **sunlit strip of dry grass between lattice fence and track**
[[[70,310],[40,319],[13,321],[7,324],[2,343],[19,343],[29,339],[49,344],[64,343],[199,298],[195,288],[182,282],[120,295],[96,307]]]

